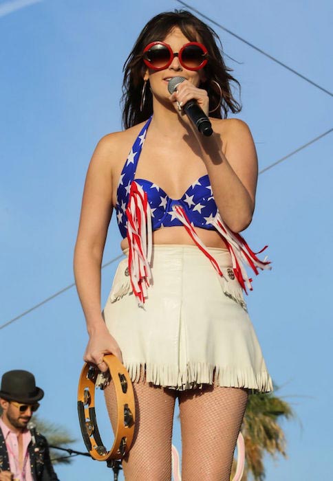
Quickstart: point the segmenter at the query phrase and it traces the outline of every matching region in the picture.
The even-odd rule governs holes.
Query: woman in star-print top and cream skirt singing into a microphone
[[[248,392],[272,390],[243,296],[246,269],[268,262],[238,234],[255,208],[257,156],[248,126],[226,119],[240,107],[216,41],[186,11],[147,23],[125,63],[125,131],[100,140],[87,172],[74,256],[89,333],[84,359],[105,371],[103,355],[114,353],[133,381],[128,481],[171,480],[175,399],[182,481],[229,481]],[[193,99],[213,135],[184,113]],[[101,313],[113,210],[126,258]]]

